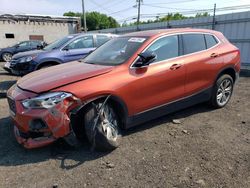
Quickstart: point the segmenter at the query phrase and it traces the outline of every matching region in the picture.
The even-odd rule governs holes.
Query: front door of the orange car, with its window
[[[185,67],[178,58],[178,35],[162,37],[146,51],[153,51],[156,60],[144,68],[130,68],[135,80],[127,87],[134,113],[170,103],[185,94]]]

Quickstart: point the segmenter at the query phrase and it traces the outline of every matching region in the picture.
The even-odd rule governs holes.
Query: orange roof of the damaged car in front
[[[209,29],[192,29],[192,28],[175,28],[175,29],[156,29],[147,31],[137,31],[133,33],[128,33],[123,36],[137,36],[137,37],[153,37],[162,34],[174,34],[174,33],[188,33],[188,32],[201,32],[201,33],[216,33]]]

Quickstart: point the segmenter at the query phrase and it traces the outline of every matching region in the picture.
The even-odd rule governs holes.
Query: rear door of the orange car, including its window
[[[217,39],[210,34],[182,34],[184,47],[183,62],[187,70],[186,95],[193,95],[213,84],[213,78],[218,69],[218,62],[223,62],[217,56]]]

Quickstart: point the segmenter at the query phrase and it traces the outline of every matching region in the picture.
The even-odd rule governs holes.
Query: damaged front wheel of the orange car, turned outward
[[[101,115],[99,116],[97,121],[98,113],[100,111],[100,108],[102,108],[102,105],[103,103],[98,102],[97,104],[91,105],[91,107],[86,110],[84,114],[85,133],[93,149],[96,149],[98,151],[111,151],[116,149],[120,144],[120,121],[118,115],[115,113],[112,106],[108,103],[103,106],[103,114],[111,114],[112,118],[102,118],[106,115]],[[105,119],[105,121],[103,119]],[[105,124],[104,122],[107,122],[107,119],[109,119],[108,123]],[[111,122],[111,124],[109,122]],[[106,127],[105,125],[109,126]],[[107,128],[106,132],[104,130],[105,127]],[[112,133],[111,138],[110,133]]]

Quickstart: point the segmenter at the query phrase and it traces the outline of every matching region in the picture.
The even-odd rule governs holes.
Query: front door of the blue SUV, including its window
[[[64,61],[74,61],[84,58],[90,51],[94,50],[93,36],[83,36],[74,39],[63,48]]]

